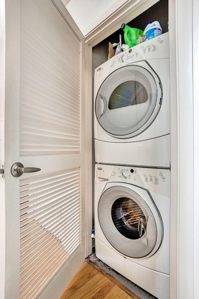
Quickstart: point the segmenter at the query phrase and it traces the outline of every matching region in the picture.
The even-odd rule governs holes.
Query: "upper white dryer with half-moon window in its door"
[[[95,69],[95,160],[170,167],[169,32]]]

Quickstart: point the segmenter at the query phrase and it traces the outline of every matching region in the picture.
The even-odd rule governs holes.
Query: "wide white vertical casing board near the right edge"
[[[179,106],[179,298],[193,294],[193,0],[178,0],[178,97]],[[186,26],[184,26],[184,21]],[[183,35],[179,33],[184,28]],[[186,42],[184,40],[186,36]],[[188,225],[187,221],[188,219]],[[191,230],[190,230],[191,227]]]

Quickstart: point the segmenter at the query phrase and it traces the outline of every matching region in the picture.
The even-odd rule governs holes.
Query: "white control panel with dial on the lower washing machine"
[[[104,180],[132,184],[170,198],[169,169],[96,164],[95,183]]]

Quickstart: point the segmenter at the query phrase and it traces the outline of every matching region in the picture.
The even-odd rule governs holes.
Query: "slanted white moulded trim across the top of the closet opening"
[[[154,5],[159,0],[130,0],[119,7],[108,18],[90,31],[86,37],[86,43],[91,47],[117,31],[122,23],[128,23],[139,16],[146,9]]]

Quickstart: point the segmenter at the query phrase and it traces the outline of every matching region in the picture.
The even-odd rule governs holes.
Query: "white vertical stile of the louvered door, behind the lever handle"
[[[20,0],[1,0],[1,105],[5,107],[4,149],[5,178],[1,180],[1,291],[4,299],[19,298],[20,225],[19,184],[11,175],[11,166],[19,161],[20,99]],[[5,7],[5,9],[4,9]],[[13,26],[14,24],[14,26]],[[3,59],[3,61],[2,61]],[[18,120],[16,121],[16,117]],[[14,196],[13,196],[14,195]],[[2,248],[4,246],[4,249]]]

